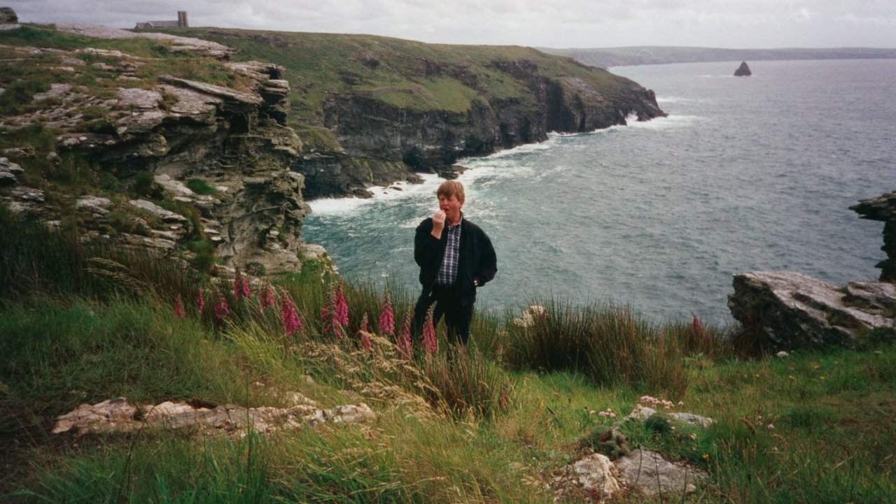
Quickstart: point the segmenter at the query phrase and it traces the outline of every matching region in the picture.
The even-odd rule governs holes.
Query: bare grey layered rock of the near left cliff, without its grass
[[[147,64],[140,57],[96,48],[8,49],[22,57],[22,64],[33,60],[34,64],[49,64],[51,72],[62,67],[66,69],[62,75],[74,76],[99,69],[121,82],[105,96],[75,85],[73,80],[54,82],[49,90],[32,98],[31,107],[0,118],[0,127],[39,124],[56,136],[55,151],[48,154],[9,149],[8,156],[23,159],[13,163],[6,158],[0,169],[0,184],[6,186],[0,198],[11,209],[51,223],[62,218],[58,209],[47,209],[45,190],[22,183],[16,167],[29,158],[42,162],[38,158],[55,157],[52,160],[58,165],[60,157],[76,155],[115,173],[125,184],[137,175],[153,174],[169,202],[200,213],[201,223],[194,227],[201,226],[200,235],[207,237],[215,256],[226,264],[260,262],[267,269],[299,268],[301,226],[310,208],[302,198],[304,176],[289,169],[302,142],[285,126],[289,82],[283,78],[282,67],[226,63],[229,72],[248,79],[244,90],[170,75],[161,75],[156,81],[144,79],[142,86],[134,87],[129,82],[140,81],[138,71]],[[96,58],[102,61],[85,63]],[[195,193],[185,184],[190,181],[201,183],[208,191]],[[138,216],[139,225],[132,226],[135,229],[130,232],[110,235],[110,210],[128,202],[73,203],[74,209],[82,212],[84,235],[149,247],[163,254],[181,253],[180,243],[195,239],[198,232],[187,225],[185,215],[172,220],[162,216],[154,203],[151,208],[132,201],[129,204],[134,209],[128,211]],[[152,226],[152,222],[159,224]]]

